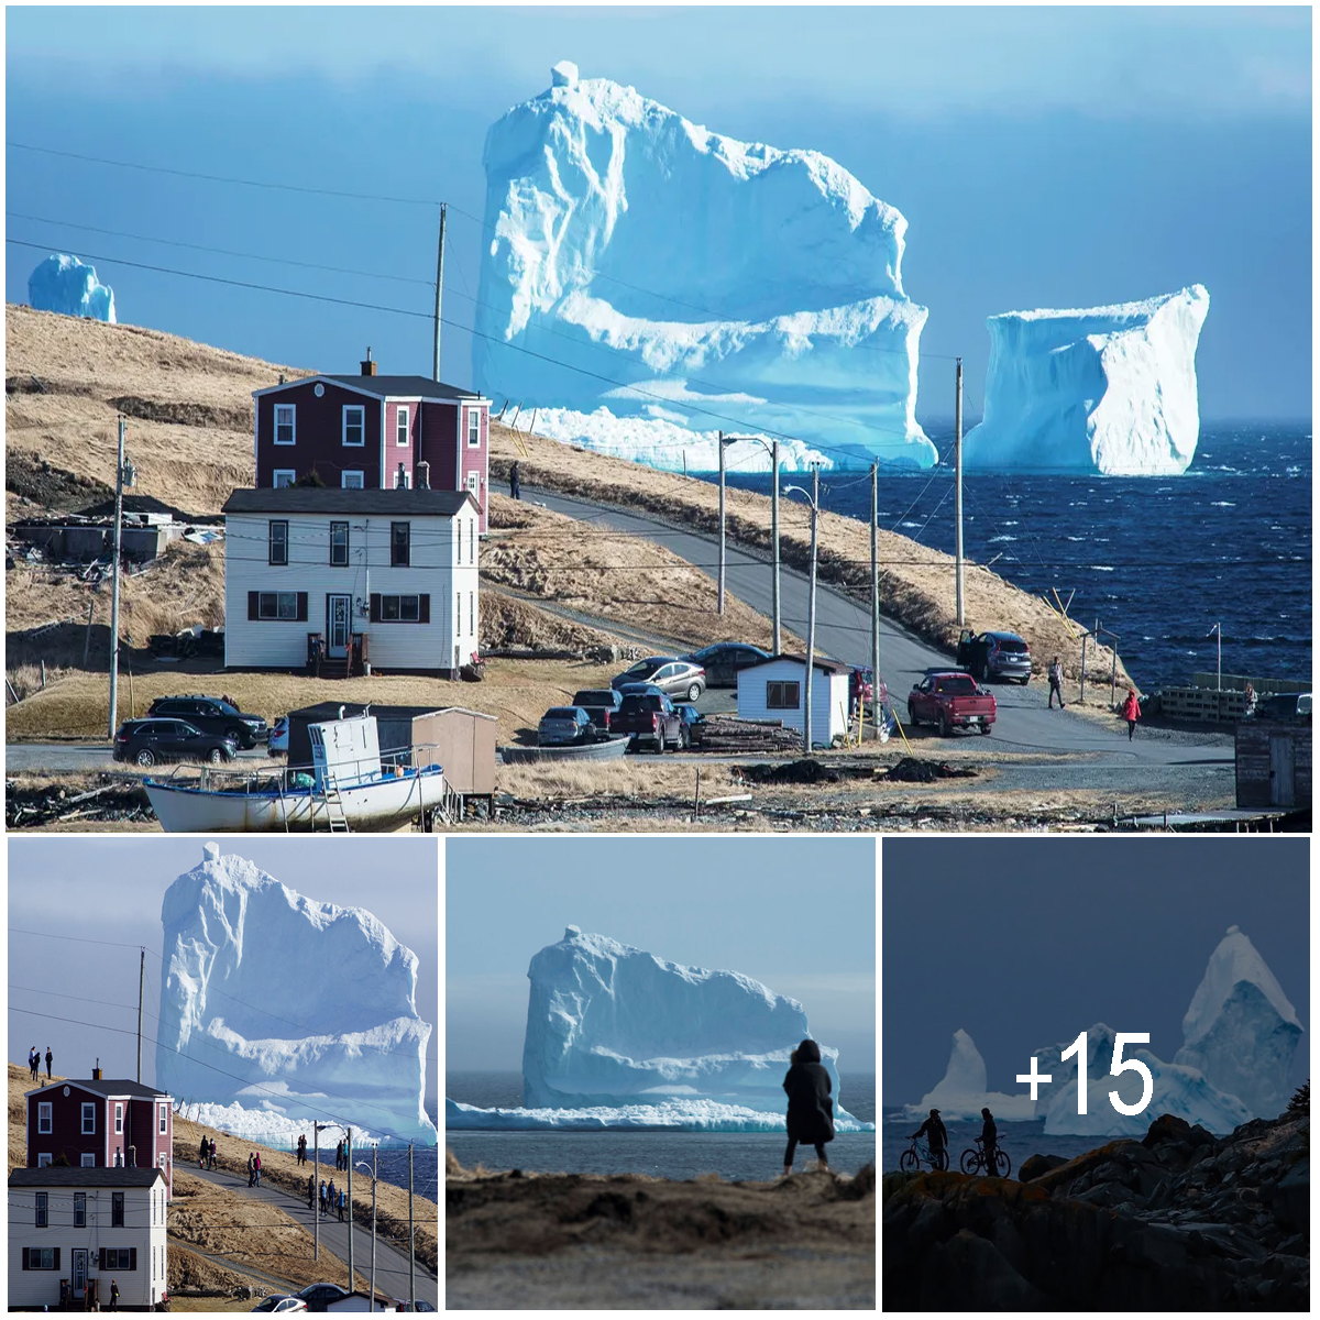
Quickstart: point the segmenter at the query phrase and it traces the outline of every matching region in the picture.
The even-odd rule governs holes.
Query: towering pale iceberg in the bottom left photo
[[[364,908],[206,846],[165,891],[156,1080],[185,1102],[433,1143],[417,956]]]

